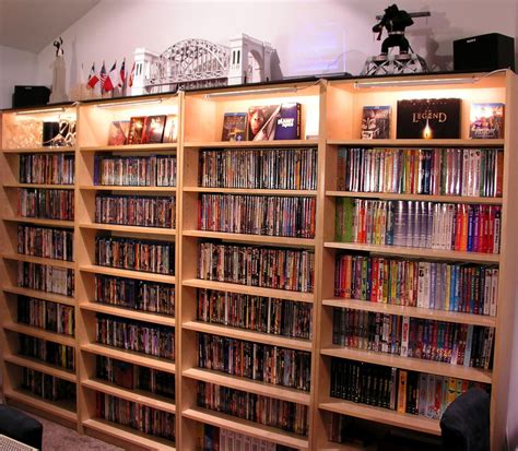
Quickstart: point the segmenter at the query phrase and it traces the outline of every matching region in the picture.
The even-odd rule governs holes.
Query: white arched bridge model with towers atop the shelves
[[[245,34],[232,38],[229,47],[186,39],[161,55],[137,48],[131,95],[267,81],[274,51]]]

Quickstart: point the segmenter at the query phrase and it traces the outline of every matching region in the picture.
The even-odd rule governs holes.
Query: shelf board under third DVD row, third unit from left
[[[204,281],[202,278],[188,278],[181,283],[184,286],[193,288],[217,289],[220,292],[237,293],[251,296],[273,297],[279,299],[298,300],[301,302],[313,302],[313,293],[290,292],[287,289],[262,288],[259,286],[239,285],[227,282]]]

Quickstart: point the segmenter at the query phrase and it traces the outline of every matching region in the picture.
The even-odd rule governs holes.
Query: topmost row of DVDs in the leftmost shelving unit
[[[73,185],[73,154],[20,154],[20,183]]]

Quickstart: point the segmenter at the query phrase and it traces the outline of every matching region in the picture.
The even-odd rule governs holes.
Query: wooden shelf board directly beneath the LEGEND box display
[[[388,140],[328,140],[332,145],[351,145],[361,147],[503,147],[504,140],[464,140],[464,139],[444,139],[444,140],[420,140],[420,139],[388,139]]]

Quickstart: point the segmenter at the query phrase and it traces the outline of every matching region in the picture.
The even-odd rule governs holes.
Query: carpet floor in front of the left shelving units
[[[57,423],[26,413],[36,418],[44,427],[42,451],[123,451],[123,448],[114,447],[89,436],[80,436],[75,430]]]

